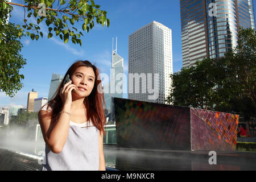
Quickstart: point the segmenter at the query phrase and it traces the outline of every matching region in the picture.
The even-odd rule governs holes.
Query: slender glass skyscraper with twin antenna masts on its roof
[[[104,85],[104,99],[108,113],[109,121],[113,118],[113,97],[123,98],[123,57],[117,53],[117,38],[114,49],[114,39],[112,42],[112,67],[110,72],[110,82]]]

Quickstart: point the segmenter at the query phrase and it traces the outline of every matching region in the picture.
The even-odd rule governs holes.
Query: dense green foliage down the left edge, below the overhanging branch
[[[1,6],[3,4],[0,4],[0,18],[6,21],[10,10],[3,10]],[[0,22],[0,30],[3,35],[0,39],[0,92],[13,97],[23,86],[24,76],[19,74],[19,70],[26,64],[26,60],[20,55],[23,46],[18,40],[22,35],[19,35],[19,30],[13,23]]]

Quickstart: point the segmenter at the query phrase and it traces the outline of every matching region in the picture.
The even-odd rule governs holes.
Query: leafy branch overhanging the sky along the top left
[[[64,43],[71,39],[73,44],[80,44],[80,46],[82,44],[80,37],[84,35],[78,30],[79,22],[82,22],[81,30],[86,32],[94,27],[94,19],[102,26],[106,24],[109,27],[110,25],[110,20],[106,17],[107,12],[100,10],[100,5],[96,5],[93,0],[68,2],[65,0],[25,0],[22,4],[2,0],[0,3],[2,4],[0,10],[11,9],[12,6],[24,8],[24,20],[22,24],[18,24],[17,28],[19,28],[20,36],[29,36],[32,40],[38,40],[40,36],[43,38],[40,27],[42,22],[45,22],[48,27],[48,39],[55,32],[55,35]],[[29,22],[31,16],[36,18],[36,24]],[[0,19],[1,22],[3,23],[3,20]]]

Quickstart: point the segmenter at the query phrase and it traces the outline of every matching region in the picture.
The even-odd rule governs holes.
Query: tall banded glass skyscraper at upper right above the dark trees
[[[252,0],[180,0],[183,67],[237,46],[238,27],[255,28]]]

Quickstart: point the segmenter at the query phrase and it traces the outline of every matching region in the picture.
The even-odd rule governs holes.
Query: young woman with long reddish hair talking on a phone
[[[105,170],[105,101],[98,69],[76,61],[38,113],[46,156],[42,170]]]

